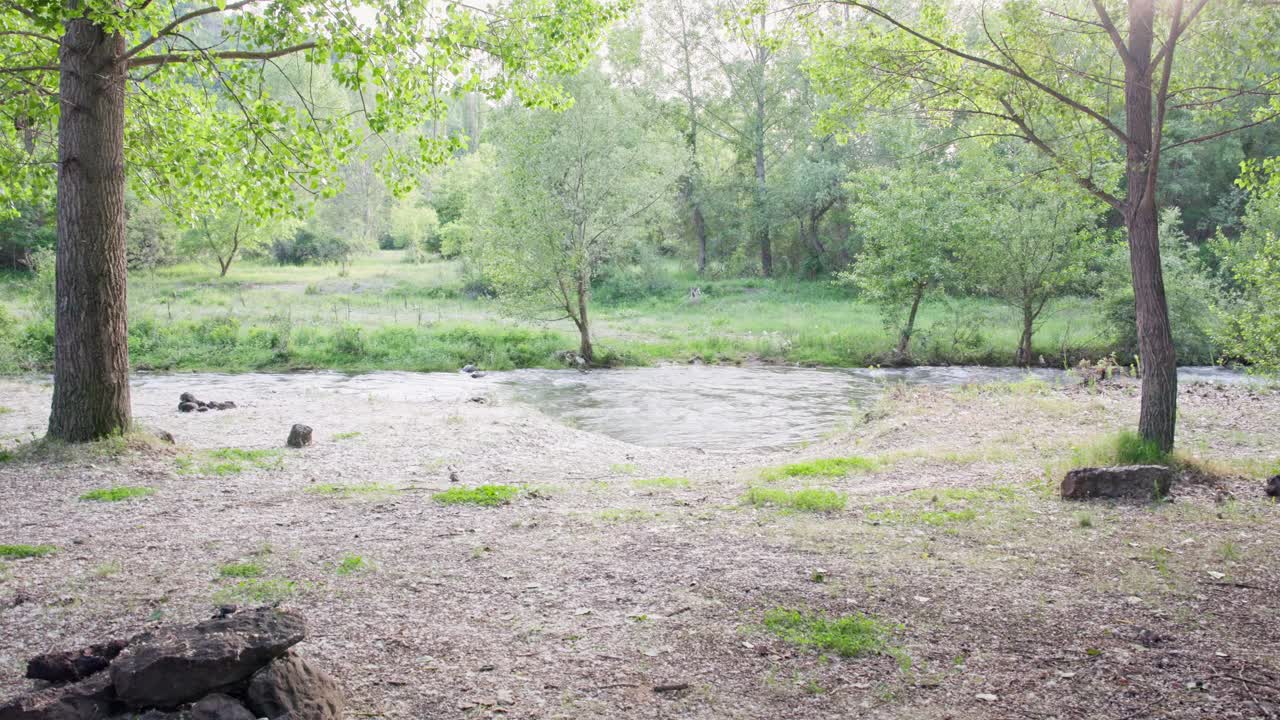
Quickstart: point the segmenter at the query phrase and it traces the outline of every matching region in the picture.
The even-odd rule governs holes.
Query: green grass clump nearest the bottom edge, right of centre
[[[891,642],[895,628],[861,612],[828,618],[776,607],[764,614],[764,628],[790,643],[831,651],[841,657],[892,655],[899,664],[910,665],[905,652]]]

